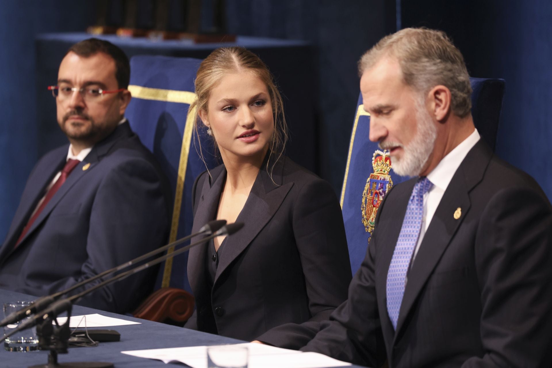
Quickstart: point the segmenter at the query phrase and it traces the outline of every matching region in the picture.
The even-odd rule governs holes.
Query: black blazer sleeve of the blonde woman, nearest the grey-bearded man
[[[268,330],[258,340],[299,349],[302,335],[318,324],[347,298],[351,264],[341,207],[330,184],[316,179],[300,188],[293,209],[293,232],[305,276],[311,318],[303,325],[288,323]]]

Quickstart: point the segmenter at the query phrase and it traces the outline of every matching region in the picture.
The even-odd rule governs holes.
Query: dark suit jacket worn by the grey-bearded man
[[[303,350],[390,367],[550,367],[552,210],[529,175],[478,142],[454,174],[408,273],[397,330],[391,257],[416,179],[380,206],[349,297]],[[460,208],[458,220],[453,217]],[[305,328],[295,344],[312,338]]]

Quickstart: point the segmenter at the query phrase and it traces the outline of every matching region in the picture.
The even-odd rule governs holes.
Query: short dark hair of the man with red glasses
[[[103,52],[113,58],[115,61],[115,78],[119,88],[128,88],[130,81],[130,63],[129,58],[126,56],[123,50],[113,45],[109,41],[100,40],[97,38],[89,38],[77,42],[71,46],[65,55],[70,52],[75,52],[78,56],[90,57]]]

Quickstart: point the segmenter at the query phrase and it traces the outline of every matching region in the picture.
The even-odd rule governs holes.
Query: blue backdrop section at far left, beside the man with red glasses
[[[38,160],[34,37],[82,30],[95,20],[93,2],[18,0],[0,3],[0,242],[26,179]],[[52,116],[52,124],[56,117]]]

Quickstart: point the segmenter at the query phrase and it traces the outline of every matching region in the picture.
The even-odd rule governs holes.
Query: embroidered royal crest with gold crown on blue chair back
[[[378,156],[379,155],[379,156]],[[366,180],[362,193],[362,223],[367,232],[374,231],[376,213],[381,200],[393,186],[391,176],[391,158],[388,151],[376,150],[372,156],[374,172]]]

